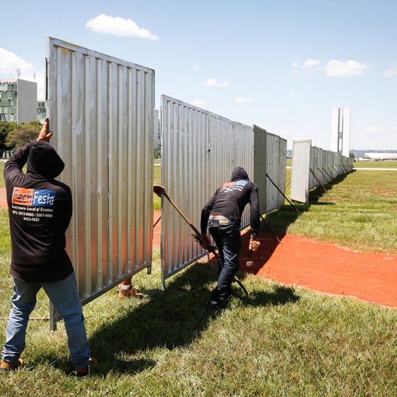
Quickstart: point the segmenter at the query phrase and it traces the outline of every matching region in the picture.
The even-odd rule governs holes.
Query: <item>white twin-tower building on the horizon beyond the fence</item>
[[[331,152],[350,155],[350,108],[332,108]]]

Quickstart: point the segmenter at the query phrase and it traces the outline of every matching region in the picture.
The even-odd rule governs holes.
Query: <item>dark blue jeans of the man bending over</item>
[[[240,228],[233,223],[230,225],[208,223],[208,228],[219,252],[218,283],[211,293],[210,300],[221,302],[231,296],[234,276],[240,268]]]

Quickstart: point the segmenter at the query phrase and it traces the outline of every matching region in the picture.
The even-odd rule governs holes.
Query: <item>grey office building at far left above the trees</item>
[[[37,83],[21,79],[0,80],[0,120],[30,123],[37,120]]]

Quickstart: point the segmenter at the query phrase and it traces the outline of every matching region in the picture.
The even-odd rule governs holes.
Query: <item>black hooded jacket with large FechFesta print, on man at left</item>
[[[27,164],[27,174],[22,169]],[[26,283],[53,282],[72,274],[65,232],[72,217],[69,186],[57,177],[65,164],[40,140],[21,147],[6,162],[11,231],[10,274]]]

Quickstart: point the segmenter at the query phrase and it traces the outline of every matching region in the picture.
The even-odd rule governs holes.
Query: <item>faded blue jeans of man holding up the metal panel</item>
[[[13,280],[12,309],[1,359],[5,362],[17,362],[25,350],[29,315],[35,307],[36,295],[41,287],[65,321],[72,364],[74,367],[88,367],[89,344],[74,272],[66,279],[53,283],[26,284],[18,279]]]

